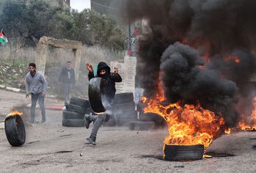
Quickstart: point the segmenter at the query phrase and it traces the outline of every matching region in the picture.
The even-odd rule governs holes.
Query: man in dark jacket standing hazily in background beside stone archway
[[[60,73],[59,86],[62,85],[65,93],[65,105],[69,101],[69,93],[71,88],[76,83],[74,69],[71,68],[71,62],[66,62],[65,67]]]

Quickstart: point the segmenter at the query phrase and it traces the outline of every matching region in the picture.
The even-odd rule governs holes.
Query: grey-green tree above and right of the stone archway
[[[100,15],[93,10],[71,11],[72,18],[67,20],[66,15],[62,15],[60,21],[63,25],[72,26],[66,32],[66,38],[79,40],[87,45],[101,45],[113,50],[124,50],[124,31],[112,18]]]

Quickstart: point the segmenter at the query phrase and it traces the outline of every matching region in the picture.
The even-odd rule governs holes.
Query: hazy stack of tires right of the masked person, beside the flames
[[[116,94],[113,100],[113,113],[118,126],[128,126],[138,117],[132,92]],[[112,116],[113,117],[113,116]]]

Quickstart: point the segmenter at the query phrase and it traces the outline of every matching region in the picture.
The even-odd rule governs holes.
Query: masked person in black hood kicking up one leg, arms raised
[[[89,70],[88,78],[90,81],[91,78],[95,77],[93,74],[93,67],[92,65],[87,64],[86,68]],[[104,79],[105,84],[107,85],[107,100],[111,104],[115,97],[115,82],[122,81],[121,76],[118,74],[118,68],[115,67],[114,73],[111,73],[110,67],[105,62],[99,62],[96,77],[101,77]],[[101,115],[85,115],[86,128],[89,128],[90,122],[94,122],[90,137],[87,139],[90,144],[96,145],[96,135],[98,133],[99,127],[101,127],[102,123],[108,120],[109,117],[110,115],[106,113]]]

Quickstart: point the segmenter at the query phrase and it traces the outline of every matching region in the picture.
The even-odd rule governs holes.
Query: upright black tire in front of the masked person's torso
[[[103,103],[108,103],[107,101],[107,87],[104,84],[102,78],[92,78],[90,79],[90,84],[88,87],[90,107],[96,113],[101,113],[106,111],[106,106]]]

